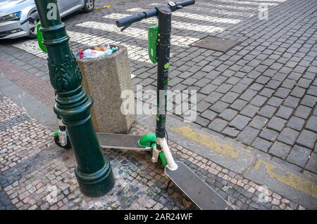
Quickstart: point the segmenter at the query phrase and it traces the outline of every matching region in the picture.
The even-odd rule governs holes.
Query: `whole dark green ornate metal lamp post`
[[[66,27],[61,22],[56,0],[35,0],[42,23],[43,44],[48,53],[49,78],[56,90],[54,112],[68,129],[75,152],[75,174],[80,191],[99,197],[111,190],[115,181],[108,158],[92,126],[90,107],[93,100],[82,88],[82,75],[68,45]]]

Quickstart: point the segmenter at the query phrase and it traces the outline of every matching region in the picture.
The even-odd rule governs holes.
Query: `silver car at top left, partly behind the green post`
[[[61,17],[78,10],[91,12],[94,10],[94,0],[57,0]],[[15,39],[18,37],[37,37],[37,23],[20,21],[35,13],[34,0],[0,0],[0,39]]]

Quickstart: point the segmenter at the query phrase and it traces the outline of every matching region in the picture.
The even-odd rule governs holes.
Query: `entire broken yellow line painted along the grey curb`
[[[238,150],[236,147],[225,143],[219,143],[216,138],[207,136],[203,133],[197,133],[189,126],[171,128],[170,130],[178,133],[180,136],[192,140],[195,143],[198,143],[199,145],[209,148],[209,150],[218,152],[218,154],[222,154],[224,157],[236,159],[240,156],[240,150]],[[249,150],[251,150],[251,148],[249,148]],[[248,152],[241,152],[248,157],[254,157],[253,154],[249,154]],[[259,170],[261,164],[266,168],[266,173],[271,178],[278,180],[280,183],[284,183],[285,185],[293,187],[296,190],[304,192],[307,195],[317,198],[317,185],[315,183],[297,176],[294,173],[290,173],[287,170],[279,169],[280,172],[285,173],[285,175],[280,175],[275,172],[278,167],[261,159],[257,159],[256,163],[254,164],[254,169]]]

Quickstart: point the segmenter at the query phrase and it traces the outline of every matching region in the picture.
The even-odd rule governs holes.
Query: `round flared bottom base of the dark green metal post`
[[[75,175],[80,191],[87,197],[101,197],[109,192],[115,184],[110,162],[105,158],[105,166],[96,173],[82,173],[75,168]]]

